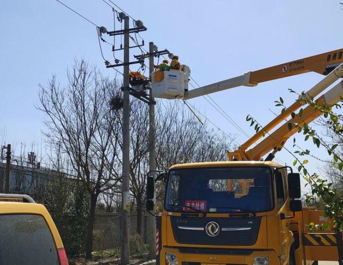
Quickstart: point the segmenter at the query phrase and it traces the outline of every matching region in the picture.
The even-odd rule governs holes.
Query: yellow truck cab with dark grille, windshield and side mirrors
[[[296,200],[300,179],[287,169],[241,161],[172,166],[164,176],[164,209],[157,218],[156,263],[306,264]],[[151,197],[149,184],[147,192]]]

